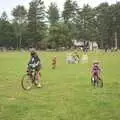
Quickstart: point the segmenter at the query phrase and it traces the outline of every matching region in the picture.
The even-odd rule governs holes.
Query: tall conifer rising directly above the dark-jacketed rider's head
[[[30,44],[36,45],[45,37],[45,6],[42,0],[33,0],[28,12],[28,36]]]

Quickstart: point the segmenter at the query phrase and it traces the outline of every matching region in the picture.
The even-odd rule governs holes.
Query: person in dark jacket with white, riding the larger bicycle
[[[41,84],[40,84],[40,69],[41,69],[40,58],[38,57],[35,50],[31,51],[30,56],[31,57],[30,57],[30,61],[28,63],[28,71],[35,70],[36,85],[37,85],[37,87],[41,87]]]

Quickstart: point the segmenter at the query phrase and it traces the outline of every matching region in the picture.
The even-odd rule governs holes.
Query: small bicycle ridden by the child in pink
[[[103,87],[103,80],[99,78],[98,76],[94,75],[94,77],[91,78],[91,84],[94,87]]]

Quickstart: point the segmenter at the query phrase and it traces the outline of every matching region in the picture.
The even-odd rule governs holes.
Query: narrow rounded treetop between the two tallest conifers
[[[55,3],[50,4],[47,13],[48,13],[48,21],[51,25],[54,25],[59,21],[59,10]]]

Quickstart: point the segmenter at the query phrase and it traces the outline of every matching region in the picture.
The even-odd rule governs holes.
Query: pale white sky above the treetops
[[[25,8],[28,9],[29,3],[31,1],[32,0],[0,0],[0,15],[3,11],[6,11],[8,17],[11,18],[11,11],[13,8],[15,8],[17,5],[24,5]],[[51,2],[55,2],[60,10],[63,9],[63,5],[65,2],[65,0],[43,0],[43,1],[46,7],[48,7]],[[87,3],[92,7],[95,7],[101,2],[108,2],[109,4],[113,4],[116,3],[116,1],[120,0],[75,0],[75,1],[77,1],[80,7]]]

